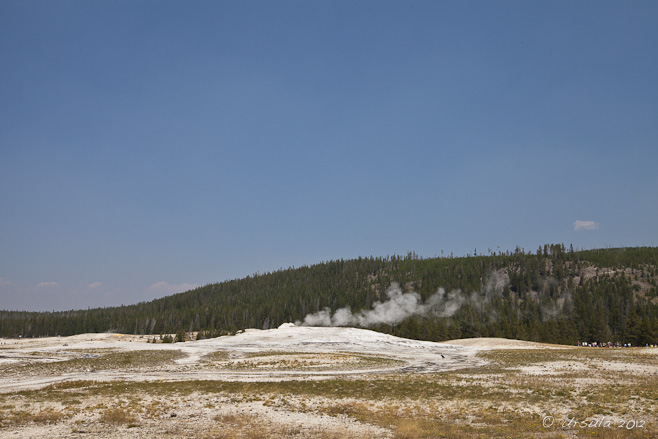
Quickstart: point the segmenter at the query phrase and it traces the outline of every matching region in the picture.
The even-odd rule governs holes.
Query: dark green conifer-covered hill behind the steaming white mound
[[[562,244],[533,252],[423,259],[323,262],[206,285],[151,302],[65,312],[0,311],[0,335],[38,337],[115,331],[206,336],[273,328],[371,310],[397,283],[420,295],[423,312],[371,326],[425,340],[507,337],[553,343],[658,344],[658,248],[574,251]],[[439,288],[444,295],[437,295]],[[323,311],[328,308],[327,311]]]

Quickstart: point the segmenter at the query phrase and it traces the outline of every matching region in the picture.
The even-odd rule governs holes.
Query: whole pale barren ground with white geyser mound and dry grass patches
[[[658,350],[283,326],[1,340],[0,437],[658,437]]]

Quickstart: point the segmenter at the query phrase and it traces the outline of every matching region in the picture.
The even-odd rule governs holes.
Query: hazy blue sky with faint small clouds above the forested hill
[[[0,309],[658,245],[658,2],[0,1]]]

